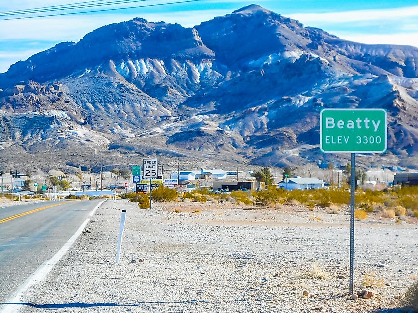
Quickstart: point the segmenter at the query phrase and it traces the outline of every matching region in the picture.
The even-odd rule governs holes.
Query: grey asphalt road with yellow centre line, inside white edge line
[[[0,208],[0,306],[55,255],[100,201],[48,201]]]

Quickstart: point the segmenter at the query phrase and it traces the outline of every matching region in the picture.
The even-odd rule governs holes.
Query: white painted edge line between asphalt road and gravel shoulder
[[[92,212],[90,212],[90,216],[93,216],[100,205],[106,200],[101,201]],[[20,286],[20,288],[14,293],[14,295],[7,300],[6,304],[3,305],[1,313],[15,313],[18,312],[22,308],[22,296],[24,292],[27,291],[29,288],[33,287],[36,284],[43,282],[46,276],[51,272],[52,268],[58,263],[59,260],[68,252],[71,248],[73,243],[77,240],[77,238],[81,235],[84,228],[86,227],[87,223],[90,222],[90,218],[87,218],[83,224],[78,228],[78,230],[72,235],[70,239],[62,246],[61,249],[50,259],[40,265],[40,267],[32,273],[28,279]]]

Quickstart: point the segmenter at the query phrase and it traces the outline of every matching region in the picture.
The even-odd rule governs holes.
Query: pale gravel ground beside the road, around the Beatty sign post
[[[356,221],[355,290],[372,277],[374,297],[351,300],[347,213],[108,200],[23,311],[397,312],[418,274],[417,230],[417,219]]]

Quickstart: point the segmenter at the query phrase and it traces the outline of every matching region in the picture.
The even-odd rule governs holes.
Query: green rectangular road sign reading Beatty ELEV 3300
[[[384,109],[324,109],[320,115],[323,152],[385,152],[387,114]]]

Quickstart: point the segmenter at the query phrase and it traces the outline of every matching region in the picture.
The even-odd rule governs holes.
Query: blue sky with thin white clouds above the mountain
[[[86,0],[0,1],[0,12],[83,1]],[[176,0],[145,0],[123,6],[169,2]],[[191,27],[253,3],[297,19],[305,26],[322,28],[343,39],[418,47],[418,1],[201,0],[111,12],[0,21],[0,73],[7,71],[11,64],[25,60],[59,42],[77,42],[86,33],[106,24],[144,17],[149,21],[177,22]]]

